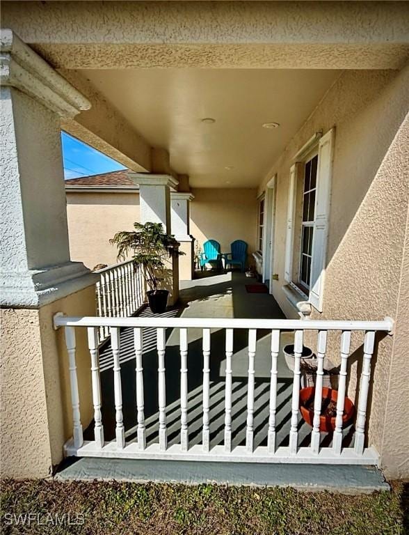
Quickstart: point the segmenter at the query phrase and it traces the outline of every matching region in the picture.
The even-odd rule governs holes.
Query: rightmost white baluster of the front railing
[[[375,332],[368,331],[364,339],[364,359],[362,362],[362,373],[360,380],[360,392],[355,426],[355,453],[362,455],[365,440],[365,419],[367,417],[367,402],[369,392],[369,381],[371,380],[371,357],[374,352]]]

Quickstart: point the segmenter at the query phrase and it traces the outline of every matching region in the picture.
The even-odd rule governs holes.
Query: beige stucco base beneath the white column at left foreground
[[[95,287],[89,286],[37,309],[1,311],[1,476],[45,477],[63,458],[72,436],[70,383],[63,329],[54,313],[95,316]],[[81,421],[93,417],[86,329],[77,329]]]

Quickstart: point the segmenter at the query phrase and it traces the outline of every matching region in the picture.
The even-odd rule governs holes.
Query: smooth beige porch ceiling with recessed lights
[[[192,187],[256,187],[339,76],[337,70],[81,72],[152,146],[169,151],[173,169],[189,174]],[[280,127],[262,127],[271,122]]]

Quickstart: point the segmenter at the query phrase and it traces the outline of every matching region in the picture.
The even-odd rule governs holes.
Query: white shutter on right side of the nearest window
[[[323,310],[334,137],[335,128],[321,137],[316,173],[315,223],[312,238],[309,302],[320,312]]]

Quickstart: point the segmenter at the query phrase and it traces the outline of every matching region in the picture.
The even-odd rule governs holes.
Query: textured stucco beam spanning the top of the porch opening
[[[401,68],[406,2],[3,2],[56,68]],[[107,24],[109,21],[109,26]]]

